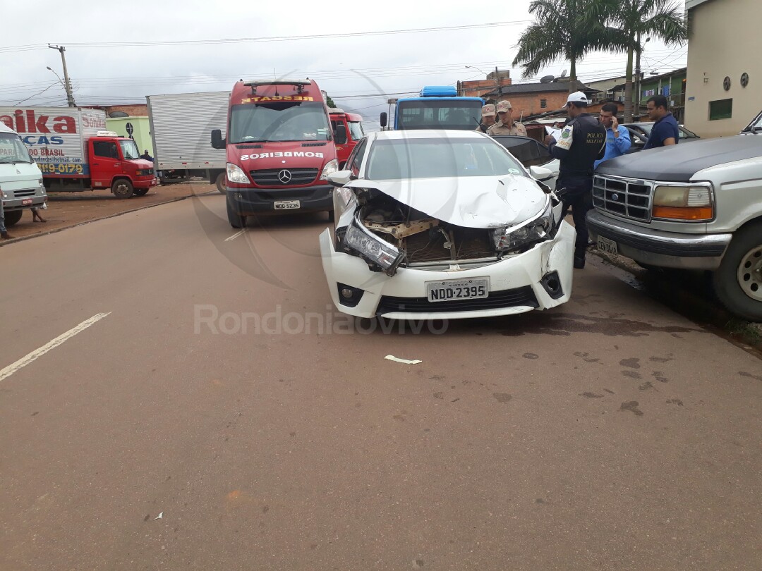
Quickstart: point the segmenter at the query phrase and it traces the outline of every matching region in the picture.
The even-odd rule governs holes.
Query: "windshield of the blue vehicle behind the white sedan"
[[[479,100],[409,100],[397,104],[398,129],[461,129],[472,131],[482,119]]]

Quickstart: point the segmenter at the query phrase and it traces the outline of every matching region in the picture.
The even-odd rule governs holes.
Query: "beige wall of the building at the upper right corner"
[[[685,126],[702,137],[735,135],[762,110],[760,0],[710,0],[690,10]],[[741,87],[741,74],[748,86]],[[728,91],[722,86],[729,77]],[[732,99],[730,119],[709,120],[709,101]]]

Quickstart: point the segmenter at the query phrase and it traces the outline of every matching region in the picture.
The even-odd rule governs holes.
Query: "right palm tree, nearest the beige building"
[[[627,51],[624,119],[632,121],[632,56],[640,56],[643,36],[658,37],[665,44],[683,45],[688,40],[687,21],[674,0],[620,0],[610,14],[613,27],[619,30],[619,49]],[[640,101],[640,94],[636,94]]]

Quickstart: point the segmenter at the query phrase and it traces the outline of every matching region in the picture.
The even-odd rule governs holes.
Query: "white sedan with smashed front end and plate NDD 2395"
[[[357,143],[320,235],[339,311],[456,319],[548,309],[571,295],[575,229],[562,205],[489,136],[386,131]],[[332,230],[332,231],[331,231]]]

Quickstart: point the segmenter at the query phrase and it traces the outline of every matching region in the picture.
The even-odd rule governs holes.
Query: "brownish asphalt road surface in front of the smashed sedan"
[[[326,224],[0,249],[0,569],[762,568],[757,357],[592,261],[545,313],[347,321]]]

